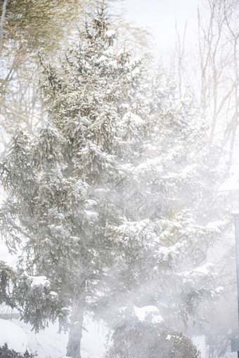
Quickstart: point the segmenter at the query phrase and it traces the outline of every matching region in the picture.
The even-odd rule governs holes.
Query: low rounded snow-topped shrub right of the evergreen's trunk
[[[105,358],[200,358],[200,352],[183,333],[150,322],[120,326],[112,336]]]

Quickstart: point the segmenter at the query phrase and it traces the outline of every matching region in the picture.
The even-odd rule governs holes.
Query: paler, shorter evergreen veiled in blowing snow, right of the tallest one
[[[127,326],[135,319],[134,305],[155,305],[165,326],[202,333],[208,307],[223,291],[207,253],[230,225],[225,198],[217,193],[226,166],[223,150],[205,143],[206,124],[190,102],[176,99],[165,79],[160,75],[147,96],[150,135],[141,162],[121,167],[130,178],[125,189],[130,205],[126,220],[107,231],[124,262],[122,270],[115,258],[110,293],[115,306],[131,307],[132,317],[121,308],[110,321]],[[119,281],[122,295],[114,285]]]

